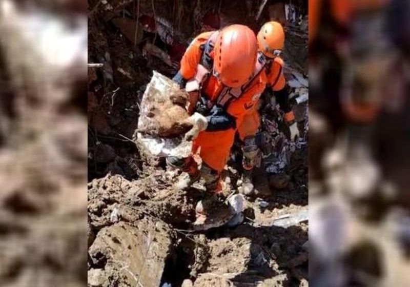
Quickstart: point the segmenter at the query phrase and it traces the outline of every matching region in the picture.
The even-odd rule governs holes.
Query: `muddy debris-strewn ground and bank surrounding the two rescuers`
[[[145,156],[133,141],[152,70],[172,77],[190,38],[215,19],[216,26],[256,27],[272,10],[264,9],[255,23],[259,6],[250,5],[248,16],[239,17],[229,5],[223,2],[218,9],[214,2],[155,1],[153,7],[141,1],[138,7],[132,1],[89,1],[89,63],[104,63],[89,68],[89,286],[308,285],[306,106],[295,111],[302,139],[293,146],[282,114],[271,106],[265,110],[267,140],[255,174],[260,193],[247,198],[245,221],[233,228],[193,232],[203,187],[174,189],[178,173],[163,158]],[[294,24],[288,29],[302,28]],[[299,43],[306,40],[298,38]],[[163,53],[154,53],[147,43]],[[288,49],[285,59],[296,59],[298,49]],[[304,55],[299,58],[289,69],[303,73]],[[287,164],[276,174],[272,169],[267,173],[282,150]],[[231,191],[237,191],[240,158],[235,146],[224,172]]]

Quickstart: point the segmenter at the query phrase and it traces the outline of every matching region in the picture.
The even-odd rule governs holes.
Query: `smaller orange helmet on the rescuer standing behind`
[[[279,22],[263,24],[258,33],[258,48],[267,57],[278,56],[285,43],[285,32]]]

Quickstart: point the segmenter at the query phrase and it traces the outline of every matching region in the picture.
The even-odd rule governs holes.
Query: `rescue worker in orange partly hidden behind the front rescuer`
[[[289,103],[289,87],[283,75],[283,60],[280,53],[284,46],[285,34],[283,27],[278,22],[265,23],[258,35],[258,60],[264,63],[264,72],[267,77],[267,89],[264,91],[268,98],[272,96],[272,91],[279,103],[280,109],[284,112],[284,120],[288,124],[291,139],[294,140],[299,135],[295,115]],[[252,171],[255,157],[258,152],[256,145],[256,133],[260,126],[259,104],[255,105],[247,115],[244,116],[242,124],[238,127],[239,138],[242,141],[242,193],[249,195],[253,192]]]

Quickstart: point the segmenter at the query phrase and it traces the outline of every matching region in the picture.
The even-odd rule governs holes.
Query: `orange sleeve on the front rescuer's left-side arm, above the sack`
[[[183,78],[190,79],[195,76],[197,66],[201,57],[200,46],[208,40],[211,34],[212,32],[199,34],[192,40],[191,44],[188,46],[181,59],[180,72]]]

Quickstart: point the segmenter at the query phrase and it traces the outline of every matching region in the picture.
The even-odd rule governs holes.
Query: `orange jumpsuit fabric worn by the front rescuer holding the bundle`
[[[212,33],[213,32],[204,32],[199,34],[187,48],[181,59],[180,73],[183,78],[191,79],[195,76],[202,54],[200,46],[207,42]],[[210,56],[213,57],[213,53],[211,53]],[[245,115],[253,113],[259,101],[260,94],[265,89],[265,83],[267,83],[267,75],[261,72],[253,79],[249,88],[246,89],[239,98],[233,100],[226,108],[227,113],[235,118],[236,127],[241,126]],[[215,102],[222,88],[223,85],[211,74],[208,79],[204,81],[201,93],[209,100]],[[220,173],[227,163],[234,142],[235,132],[236,128],[216,132],[200,132],[193,142],[192,153],[196,153],[199,149],[199,155],[202,161]]]

